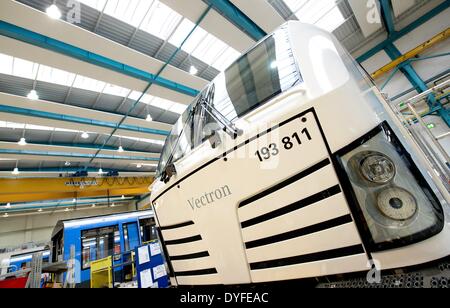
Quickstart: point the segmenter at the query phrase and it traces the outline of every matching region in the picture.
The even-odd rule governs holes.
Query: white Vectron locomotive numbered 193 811
[[[449,192],[340,43],[300,22],[202,91],[151,189],[178,285],[353,273],[370,260],[395,269],[450,253]]]

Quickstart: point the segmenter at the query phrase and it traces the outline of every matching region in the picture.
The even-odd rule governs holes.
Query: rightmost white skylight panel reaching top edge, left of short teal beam
[[[154,1],[151,10],[142,23],[141,29],[163,40],[167,40],[182,18],[180,14],[165,4],[160,1]]]

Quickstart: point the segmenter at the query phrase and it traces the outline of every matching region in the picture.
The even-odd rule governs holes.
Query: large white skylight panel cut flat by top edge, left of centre
[[[109,0],[104,12],[134,27],[138,27],[152,2],[149,0]]]

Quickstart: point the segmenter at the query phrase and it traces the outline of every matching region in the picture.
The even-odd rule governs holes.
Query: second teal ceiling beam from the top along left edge
[[[39,111],[39,110],[19,108],[19,107],[13,107],[13,106],[5,106],[5,105],[0,105],[0,112],[17,114],[17,115],[22,115],[22,116],[37,117],[37,118],[43,118],[43,119],[49,119],[49,120],[71,122],[71,123],[77,123],[77,124],[86,124],[86,125],[93,125],[93,126],[99,126],[99,127],[107,127],[107,128],[112,128],[112,129],[123,129],[123,130],[128,130],[128,131],[133,131],[133,132],[147,133],[147,134],[160,135],[160,136],[168,136],[170,133],[170,132],[164,131],[164,130],[158,130],[158,129],[152,129],[152,128],[134,126],[134,125],[127,125],[127,124],[116,124],[116,123],[111,123],[111,122],[105,122],[105,121],[93,120],[93,119],[88,119],[88,118],[64,115],[64,114],[59,114],[59,113],[52,113],[52,112],[47,112],[47,111]]]

